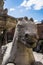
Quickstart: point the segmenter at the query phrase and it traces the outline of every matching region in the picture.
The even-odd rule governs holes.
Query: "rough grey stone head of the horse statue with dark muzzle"
[[[18,41],[25,44],[27,47],[32,47],[37,42],[37,28],[34,22],[25,20],[24,18],[18,20]]]

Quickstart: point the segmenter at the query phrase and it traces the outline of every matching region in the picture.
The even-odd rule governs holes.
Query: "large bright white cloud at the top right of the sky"
[[[24,0],[20,6],[30,9],[32,5],[34,10],[40,10],[43,8],[43,0]]]

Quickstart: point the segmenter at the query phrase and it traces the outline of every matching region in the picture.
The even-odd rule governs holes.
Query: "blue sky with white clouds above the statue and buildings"
[[[43,20],[43,0],[6,0],[4,8],[16,18],[27,16],[35,21]]]

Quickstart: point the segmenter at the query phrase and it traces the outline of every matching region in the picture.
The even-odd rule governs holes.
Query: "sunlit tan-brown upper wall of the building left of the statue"
[[[9,15],[6,15],[6,18],[4,18],[4,16],[0,16],[0,33],[1,31],[3,31],[4,28],[6,28],[7,30],[11,30],[15,26],[16,26],[16,18]]]

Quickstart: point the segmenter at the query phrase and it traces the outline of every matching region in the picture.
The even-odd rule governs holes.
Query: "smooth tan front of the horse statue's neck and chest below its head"
[[[30,65],[34,61],[32,49],[27,48],[21,43],[17,45],[17,53],[15,57],[15,63],[17,65]]]

